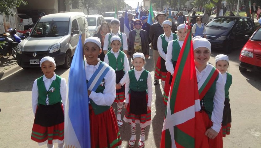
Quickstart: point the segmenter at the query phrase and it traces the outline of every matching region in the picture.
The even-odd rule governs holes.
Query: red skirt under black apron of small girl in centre
[[[130,94],[129,94],[130,98]],[[148,95],[146,95],[148,102]],[[130,100],[131,101],[131,100]],[[130,113],[130,102],[128,103],[123,120],[128,123],[138,123],[141,128],[145,128],[147,125],[151,124],[151,110],[148,110],[146,114],[135,115]]]

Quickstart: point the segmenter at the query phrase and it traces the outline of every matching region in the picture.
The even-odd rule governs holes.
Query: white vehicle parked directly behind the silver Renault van
[[[90,36],[94,36],[97,31],[99,30],[99,27],[103,22],[105,22],[105,19],[102,15],[95,14],[95,15],[85,15],[88,25],[89,25],[89,33]]]

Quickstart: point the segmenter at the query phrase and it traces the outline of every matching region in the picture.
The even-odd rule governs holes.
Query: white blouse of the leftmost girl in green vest
[[[56,80],[56,74],[54,73],[53,77],[51,79],[46,78],[44,75],[43,81],[45,83],[45,88],[46,90],[49,90],[51,84],[53,81]],[[65,107],[65,100],[68,96],[68,87],[66,84],[66,80],[64,78],[61,79],[61,84],[60,84],[60,94],[62,97],[62,104],[63,108]],[[38,86],[37,86],[37,79],[34,80],[33,82],[33,89],[32,89],[32,107],[33,107],[33,114],[35,116],[36,108],[38,105]]]

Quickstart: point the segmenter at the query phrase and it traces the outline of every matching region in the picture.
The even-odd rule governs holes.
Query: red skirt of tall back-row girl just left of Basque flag
[[[155,77],[158,80],[161,79],[162,81],[165,81],[166,76],[167,76],[167,70],[166,70],[165,60],[159,56],[155,68]]]

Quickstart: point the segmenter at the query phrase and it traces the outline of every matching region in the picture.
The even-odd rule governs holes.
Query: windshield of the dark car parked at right
[[[235,24],[235,18],[216,18],[211,20],[206,27],[217,27],[217,28],[232,28]]]

